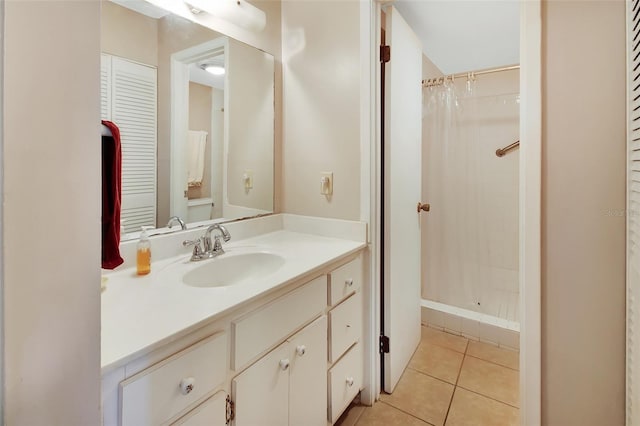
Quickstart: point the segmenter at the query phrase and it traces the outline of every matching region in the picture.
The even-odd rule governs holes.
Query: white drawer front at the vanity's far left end
[[[227,353],[220,333],[121,382],[122,426],[162,424],[202,399],[224,382]]]

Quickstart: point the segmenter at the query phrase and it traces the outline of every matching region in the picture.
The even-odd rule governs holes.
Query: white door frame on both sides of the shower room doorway
[[[371,292],[365,377],[370,383],[362,402],[380,397],[380,72],[381,8],[388,0],[360,2],[361,80],[361,220],[369,224]],[[542,190],[542,21],[541,0],[520,3],[520,423],[541,423],[541,190]]]

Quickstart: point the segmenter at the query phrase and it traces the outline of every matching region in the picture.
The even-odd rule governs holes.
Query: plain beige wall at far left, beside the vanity
[[[3,424],[99,425],[100,3],[4,7]]]

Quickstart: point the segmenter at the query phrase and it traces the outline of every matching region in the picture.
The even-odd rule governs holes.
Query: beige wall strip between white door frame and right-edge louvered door
[[[623,425],[624,2],[545,1],[542,22],[543,424]]]

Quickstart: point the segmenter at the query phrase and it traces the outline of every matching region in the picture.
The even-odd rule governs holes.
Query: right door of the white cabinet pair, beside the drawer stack
[[[289,347],[289,425],[326,426],[327,317],[318,318],[291,337]]]

